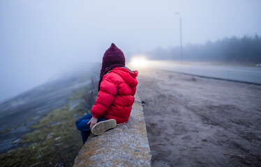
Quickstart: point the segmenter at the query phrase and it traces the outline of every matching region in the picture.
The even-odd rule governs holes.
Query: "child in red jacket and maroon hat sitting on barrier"
[[[125,67],[124,53],[112,43],[103,55],[98,97],[91,113],[75,122],[85,143],[88,136],[103,134],[128,121],[137,86],[137,70]],[[98,123],[97,123],[98,122]]]

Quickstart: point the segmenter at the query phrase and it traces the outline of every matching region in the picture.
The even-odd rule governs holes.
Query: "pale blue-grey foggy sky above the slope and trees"
[[[261,35],[261,1],[0,1],[0,101],[89,62],[114,42],[161,47]]]

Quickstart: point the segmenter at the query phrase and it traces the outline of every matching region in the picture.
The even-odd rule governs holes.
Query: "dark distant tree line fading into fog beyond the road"
[[[181,60],[180,47],[157,48],[148,53],[150,58]],[[261,63],[261,38],[223,38],[216,42],[207,41],[203,45],[188,44],[183,49],[184,61],[220,61],[239,63]]]

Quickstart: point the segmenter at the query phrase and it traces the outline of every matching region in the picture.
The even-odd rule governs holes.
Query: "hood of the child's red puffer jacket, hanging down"
[[[127,67],[114,67],[114,69],[112,69],[112,72],[119,74],[130,87],[133,88],[137,86],[137,70],[132,71]]]

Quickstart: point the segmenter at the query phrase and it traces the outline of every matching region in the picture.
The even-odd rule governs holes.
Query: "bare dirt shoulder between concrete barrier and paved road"
[[[261,86],[139,70],[153,166],[261,166]]]

